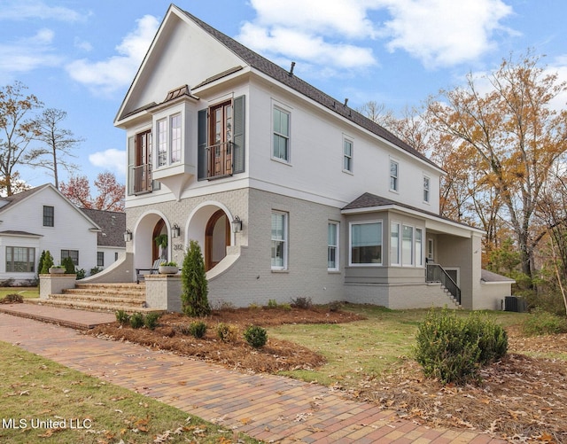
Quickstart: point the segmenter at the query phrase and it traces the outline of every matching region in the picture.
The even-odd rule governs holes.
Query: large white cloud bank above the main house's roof
[[[424,66],[452,66],[481,57],[512,14],[503,0],[250,0],[257,17],[239,41],[256,51],[335,72],[377,64],[373,51],[406,51]],[[302,63],[302,64],[303,64]]]

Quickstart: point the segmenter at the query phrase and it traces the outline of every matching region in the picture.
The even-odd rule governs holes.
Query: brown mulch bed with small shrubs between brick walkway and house
[[[260,349],[252,349],[243,338],[243,333],[250,325],[267,327],[283,323],[347,323],[358,321],[361,316],[342,311],[330,311],[323,308],[281,309],[281,308],[240,308],[214,311],[203,321],[206,323],[206,335],[196,339],[184,335],[179,327],[186,326],[194,319],[185,315],[168,313],[159,318],[159,326],[148,329],[132,329],[110,323],[97,326],[90,331],[100,338],[128,340],[144,346],[161,350],[171,350],[178,354],[194,356],[209,362],[218,362],[229,368],[253,372],[276,373],[283,370],[311,370],[325,363],[321,354],[306,347],[285,340],[268,337],[268,344]],[[219,323],[234,327],[234,337],[223,342],[217,336]]]

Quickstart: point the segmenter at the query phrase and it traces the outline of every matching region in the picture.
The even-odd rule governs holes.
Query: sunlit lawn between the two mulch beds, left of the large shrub
[[[270,337],[286,339],[325,356],[317,370],[291,370],[281,374],[330,386],[356,386],[362,380],[395,371],[413,356],[416,333],[429,310],[391,310],[376,306],[346,305],[345,310],[366,317],[363,321],[339,324],[282,325],[270,327]],[[460,310],[458,316],[469,315]],[[487,311],[485,315],[503,327],[522,323],[525,314]]]

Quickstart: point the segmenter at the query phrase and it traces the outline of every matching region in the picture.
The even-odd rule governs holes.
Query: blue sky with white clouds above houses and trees
[[[23,82],[85,141],[79,174],[125,175],[113,120],[169,1],[0,0],[0,85]],[[400,111],[532,49],[567,80],[564,0],[177,0],[353,108]],[[188,49],[190,51],[190,49]],[[562,103],[561,106],[564,104]],[[52,182],[20,168],[32,186]],[[66,181],[64,174],[63,181]]]

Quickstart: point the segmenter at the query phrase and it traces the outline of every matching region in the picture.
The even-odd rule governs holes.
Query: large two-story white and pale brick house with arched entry
[[[166,234],[173,261],[201,245],[213,303],[450,305],[439,280],[464,308],[501,299],[482,294],[483,232],[439,215],[438,166],[173,4],[114,123],[128,151],[120,276],[151,268]]]

